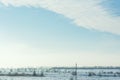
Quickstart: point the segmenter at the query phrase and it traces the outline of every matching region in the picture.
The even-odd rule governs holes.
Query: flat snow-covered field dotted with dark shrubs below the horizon
[[[0,69],[0,80],[120,80],[120,69],[99,68]]]

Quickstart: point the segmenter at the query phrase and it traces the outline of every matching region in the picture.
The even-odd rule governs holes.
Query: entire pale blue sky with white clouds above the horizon
[[[0,0],[0,67],[120,66],[120,0]]]

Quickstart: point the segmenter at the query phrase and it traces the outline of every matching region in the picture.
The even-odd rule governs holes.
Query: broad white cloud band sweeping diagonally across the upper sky
[[[42,7],[62,14],[76,25],[120,34],[120,17],[109,14],[99,3],[104,0],[0,0],[6,6]]]

